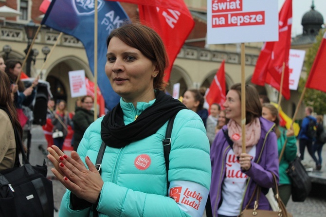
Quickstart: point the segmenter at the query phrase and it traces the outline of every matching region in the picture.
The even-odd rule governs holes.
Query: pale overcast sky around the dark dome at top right
[[[280,11],[285,0],[278,0]],[[304,14],[311,9],[312,0],[292,0],[292,37],[302,34],[301,20]],[[321,13],[326,23],[326,0],[314,0],[315,10]]]

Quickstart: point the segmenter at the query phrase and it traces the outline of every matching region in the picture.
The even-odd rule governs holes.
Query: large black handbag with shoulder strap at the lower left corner
[[[10,117],[9,113],[8,116]],[[15,167],[0,172],[0,216],[53,217],[53,186],[52,181],[46,178],[45,160],[42,166],[32,166],[27,160],[16,127],[14,127],[14,131]],[[19,163],[19,151],[22,155],[22,166]]]

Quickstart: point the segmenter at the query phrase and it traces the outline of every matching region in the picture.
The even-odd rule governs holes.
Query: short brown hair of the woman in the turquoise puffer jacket
[[[113,30],[107,39],[107,47],[112,37],[117,37],[128,46],[138,49],[156,64],[159,73],[154,77],[153,87],[165,90],[166,82],[163,81],[163,76],[168,65],[168,58],[162,38],[153,29],[140,23],[126,23]]]

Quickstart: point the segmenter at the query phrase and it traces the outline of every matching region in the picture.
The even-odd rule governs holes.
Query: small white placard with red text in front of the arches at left
[[[86,95],[86,84],[85,84],[85,71],[77,70],[69,72],[69,84],[71,96],[85,96]]]

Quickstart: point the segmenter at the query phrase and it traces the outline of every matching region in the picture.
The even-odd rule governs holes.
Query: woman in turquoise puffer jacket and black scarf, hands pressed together
[[[125,24],[107,45],[105,71],[120,103],[91,124],[78,153],[48,148],[52,171],[68,189],[59,216],[201,217],[211,181],[209,142],[200,117],[162,91],[162,39],[144,25]],[[173,116],[167,173],[163,140]]]

